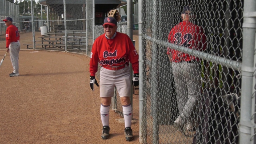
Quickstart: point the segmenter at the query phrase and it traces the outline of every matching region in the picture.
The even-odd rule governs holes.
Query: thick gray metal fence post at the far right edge
[[[251,143],[253,139],[251,135],[254,133],[254,120],[252,116],[253,94],[253,69],[254,69],[254,46],[255,46],[255,16],[250,16],[256,11],[256,1],[244,1],[243,13],[243,59],[242,59],[242,88],[241,88],[241,115],[239,126],[239,143]]]

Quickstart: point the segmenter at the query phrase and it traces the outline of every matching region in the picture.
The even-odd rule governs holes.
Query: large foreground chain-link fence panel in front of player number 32
[[[141,143],[243,143],[239,134],[249,133],[243,126],[252,127],[254,138],[254,119],[241,122],[240,111],[241,88],[253,87],[241,81],[243,13],[253,1],[247,2],[139,2]]]

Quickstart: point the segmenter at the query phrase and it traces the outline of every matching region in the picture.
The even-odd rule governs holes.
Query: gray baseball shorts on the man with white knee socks
[[[120,97],[130,96],[132,85],[129,65],[117,71],[101,67],[100,77],[100,97],[113,97],[115,87]]]

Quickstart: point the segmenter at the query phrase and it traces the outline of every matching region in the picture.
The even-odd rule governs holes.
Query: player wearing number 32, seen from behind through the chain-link
[[[189,6],[183,8],[181,16],[183,21],[171,29],[169,42],[198,51],[204,50],[206,36],[201,27],[190,22],[189,19],[193,15],[190,13]],[[168,48],[167,54],[172,63],[179,109],[179,116],[175,123],[180,126],[187,124],[187,129],[191,130],[193,128],[191,117],[196,116],[196,114],[193,116],[193,109],[198,103],[201,92],[200,61],[195,56],[171,48]]]

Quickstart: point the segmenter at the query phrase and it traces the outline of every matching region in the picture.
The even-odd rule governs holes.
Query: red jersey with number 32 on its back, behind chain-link
[[[198,51],[205,50],[206,47],[206,36],[203,34],[202,28],[189,21],[183,21],[174,26],[170,31],[168,41]],[[167,48],[167,54],[171,55],[174,62],[198,59],[171,48]]]

